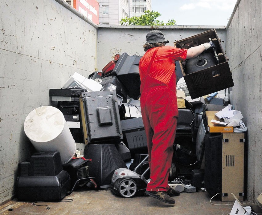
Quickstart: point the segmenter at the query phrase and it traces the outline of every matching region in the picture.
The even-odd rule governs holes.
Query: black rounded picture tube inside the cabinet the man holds
[[[186,60],[186,74],[200,71],[216,64],[217,60],[214,53],[202,53],[196,58]]]

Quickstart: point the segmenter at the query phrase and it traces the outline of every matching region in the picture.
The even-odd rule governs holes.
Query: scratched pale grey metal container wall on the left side
[[[0,202],[14,195],[18,162],[31,143],[26,116],[50,104],[49,88],[96,67],[97,30],[53,0],[0,5]]]

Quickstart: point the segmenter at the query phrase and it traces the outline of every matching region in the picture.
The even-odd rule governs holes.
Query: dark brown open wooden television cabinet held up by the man
[[[199,58],[194,58],[196,62],[193,68],[198,68],[200,69],[199,71],[190,73],[189,69],[186,69],[185,65],[192,62],[192,59],[190,59],[191,61],[187,60],[183,63],[181,61],[178,62],[192,99],[234,86],[228,60],[224,54],[220,44],[220,39],[218,38],[215,29],[176,41],[174,42],[174,46],[189,49],[190,47],[210,42],[209,38],[213,43],[215,43],[217,55],[215,55],[214,51],[212,53],[212,49],[209,49],[202,53],[203,57],[200,57],[202,56],[201,54],[199,55]],[[204,55],[205,53],[206,55]],[[207,56],[212,56],[212,64],[209,63],[211,60],[206,59]],[[216,56],[215,60],[213,56]],[[201,63],[204,61],[207,62],[207,64]]]

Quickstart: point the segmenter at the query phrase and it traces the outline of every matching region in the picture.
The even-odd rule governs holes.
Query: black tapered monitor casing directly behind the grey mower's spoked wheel
[[[127,168],[114,144],[88,144],[84,148],[84,158],[88,163],[89,176],[94,177],[101,188],[109,188],[111,177],[118,168]]]

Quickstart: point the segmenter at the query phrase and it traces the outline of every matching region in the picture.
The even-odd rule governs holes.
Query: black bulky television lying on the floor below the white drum
[[[20,201],[57,201],[70,191],[70,175],[62,168],[59,152],[38,152],[18,164],[16,182]]]

